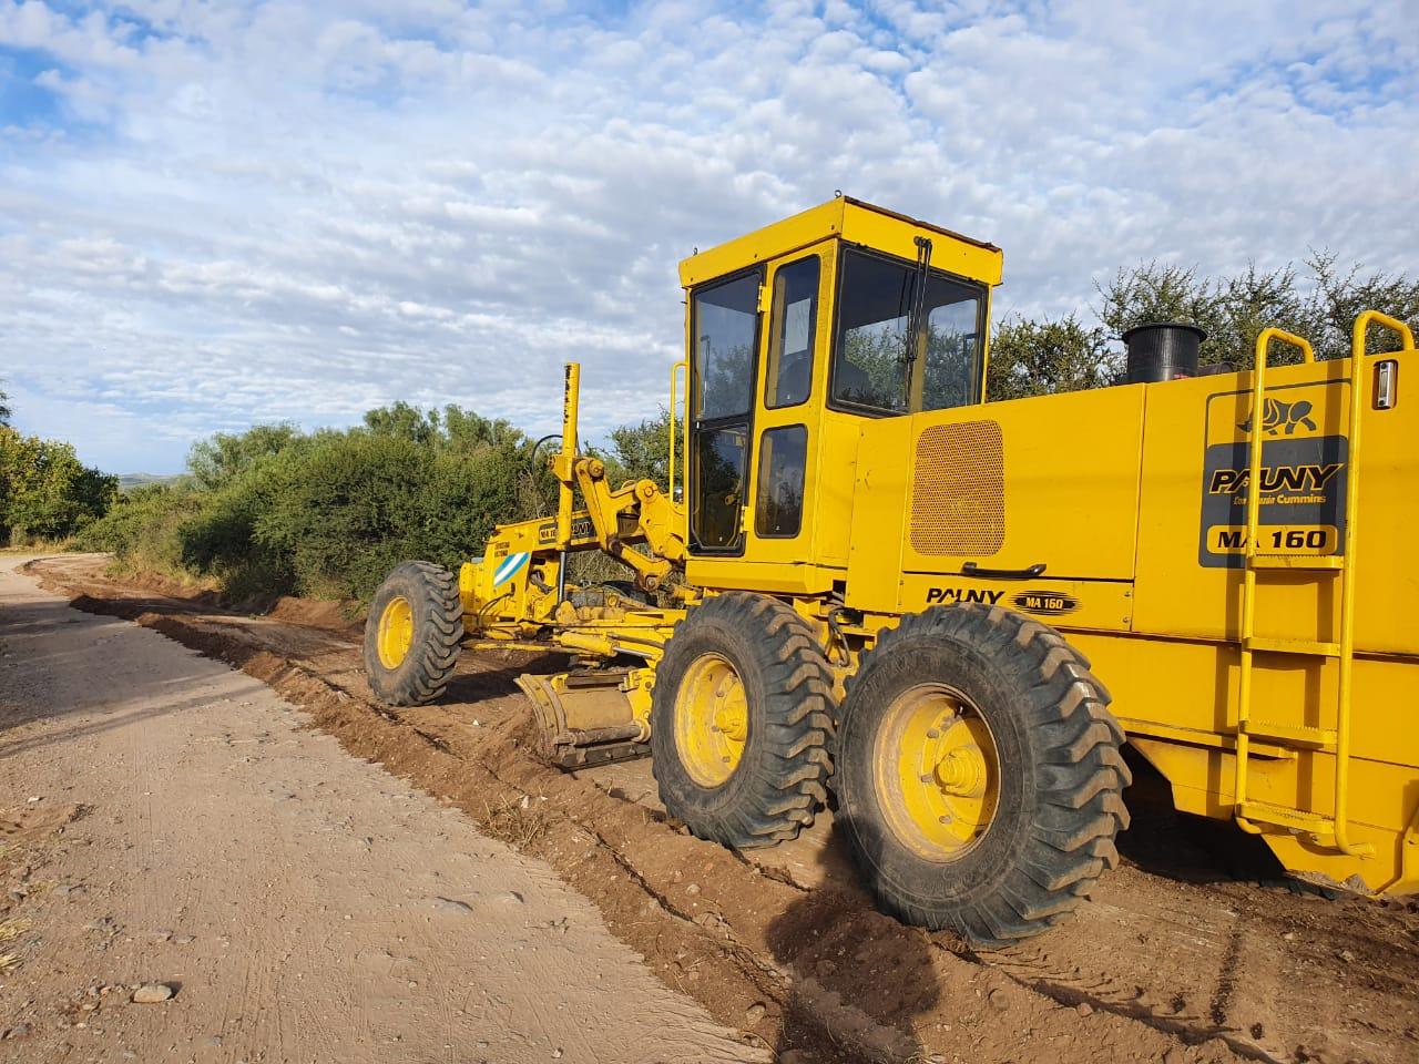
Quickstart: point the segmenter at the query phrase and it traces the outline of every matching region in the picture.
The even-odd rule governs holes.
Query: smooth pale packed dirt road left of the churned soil
[[[0,1060],[768,1058],[546,864],[23,560],[0,558]]]

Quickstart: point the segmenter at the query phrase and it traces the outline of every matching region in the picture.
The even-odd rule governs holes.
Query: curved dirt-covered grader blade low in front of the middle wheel
[[[624,668],[518,677],[536,711],[543,756],[558,767],[582,769],[650,753],[648,729],[626,691],[629,677]]]

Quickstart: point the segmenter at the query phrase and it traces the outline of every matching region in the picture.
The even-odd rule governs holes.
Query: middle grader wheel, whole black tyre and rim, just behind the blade
[[[690,610],[656,667],[666,810],[734,848],[793,838],[827,799],[832,692],[812,630],[783,603],[731,592]]]

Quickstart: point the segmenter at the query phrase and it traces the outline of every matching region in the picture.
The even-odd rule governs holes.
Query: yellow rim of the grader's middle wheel
[[[749,738],[744,681],[725,658],[701,654],[675,692],[675,746],[702,787],[722,786],[739,767]]]

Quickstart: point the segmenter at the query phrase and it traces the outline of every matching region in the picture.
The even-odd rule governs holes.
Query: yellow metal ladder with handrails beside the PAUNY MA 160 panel
[[[1403,322],[1365,311],[1355,319],[1351,333],[1351,380],[1349,403],[1344,436],[1348,438],[1348,475],[1345,478],[1345,536],[1340,555],[1284,555],[1263,553],[1257,535],[1261,516],[1261,450],[1263,410],[1266,403],[1266,360],[1271,340],[1280,340],[1301,352],[1305,363],[1315,362],[1310,342],[1284,329],[1264,329],[1256,338],[1256,367],[1252,375],[1252,426],[1247,438],[1249,481],[1246,497],[1246,553],[1242,573],[1242,672],[1237,691],[1237,733],[1236,733],[1236,823],[1243,830],[1260,834],[1264,827],[1279,827],[1294,834],[1310,836],[1318,846],[1342,854],[1368,857],[1374,853],[1369,843],[1355,843],[1349,838],[1347,810],[1349,783],[1349,724],[1351,724],[1351,681],[1355,665],[1355,545],[1358,543],[1358,499],[1359,499],[1359,427],[1364,410],[1365,333],[1371,323],[1393,329],[1403,340],[1403,350],[1413,350],[1415,340]],[[1340,582],[1340,641],[1321,643],[1314,640],[1279,640],[1256,634],[1256,596],[1260,580],[1274,573],[1308,572],[1317,579]],[[1335,705],[1335,726],[1296,726],[1252,716],[1252,691],[1256,671],[1256,654],[1301,654],[1334,658],[1340,665],[1340,691]],[[1334,814],[1281,806],[1271,802],[1257,802],[1247,797],[1247,770],[1250,741],[1257,739],[1280,745],[1286,749],[1324,750],[1335,756]]]

